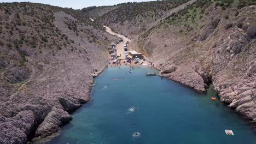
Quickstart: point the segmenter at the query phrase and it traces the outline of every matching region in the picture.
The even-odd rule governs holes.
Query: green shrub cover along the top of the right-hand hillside
[[[184,26],[184,29],[181,29],[180,32],[183,31],[191,31],[193,28],[197,27],[201,23],[201,19],[203,15],[209,15],[208,12],[205,12],[205,10],[211,5],[214,4],[214,7],[221,7],[222,10],[228,9],[228,8],[237,8],[241,9],[243,7],[246,7],[248,5],[255,5],[256,2],[253,0],[249,1],[243,1],[243,0],[199,0],[195,4],[190,5],[189,7],[185,8],[182,11],[179,11],[179,13],[172,14],[168,17],[166,17],[165,21],[162,21],[160,23],[160,26],[168,27],[171,25],[179,25]],[[238,10],[236,11],[235,16],[239,14]],[[228,15],[224,15],[225,19],[229,19]],[[228,26],[227,26],[228,27]],[[149,32],[145,33],[143,37],[147,37],[147,34]]]

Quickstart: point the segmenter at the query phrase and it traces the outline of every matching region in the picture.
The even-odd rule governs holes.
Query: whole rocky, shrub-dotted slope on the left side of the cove
[[[48,140],[90,99],[114,39],[80,11],[0,4],[0,143]]]

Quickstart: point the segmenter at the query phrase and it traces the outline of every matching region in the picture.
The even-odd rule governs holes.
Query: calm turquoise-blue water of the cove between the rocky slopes
[[[91,101],[49,143],[256,143],[250,123],[212,101],[214,92],[200,94],[160,76],[146,77],[155,71],[147,67],[131,74],[129,69],[109,67],[97,77]],[[135,111],[128,111],[132,106]],[[138,138],[132,137],[136,131]]]

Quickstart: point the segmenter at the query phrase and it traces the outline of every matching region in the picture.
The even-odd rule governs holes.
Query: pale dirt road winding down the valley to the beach
[[[131,41],[130,39],[128,38],[125,38],[124,35],[121,35],[121,34],[118,34],[118,33],[114,33],[109,27],[106,27],[106,26],[103,26],[106,28],[106,32],[110,33],[110,34],[116,34],[117,37],[119,38],[122,38],[123,39],[123,42],[121,42],[120,44],[117,45],[117,55],[120,56],[121,55],[121,59],[125,59],[125,55],[124,55],[124,45],[126,43],[126,41]],[[129,50],[129,44],[127,45],[128,47],[128,50]]]

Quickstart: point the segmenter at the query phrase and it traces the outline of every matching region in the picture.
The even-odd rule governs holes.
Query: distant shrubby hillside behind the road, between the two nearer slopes
[[[113,28],[120,34],[136,35],[151,28],[161,21],[162,17],[168,15],[173,8],[185,2],[188,0],[125,3],[97,17],[96,21]]]

